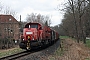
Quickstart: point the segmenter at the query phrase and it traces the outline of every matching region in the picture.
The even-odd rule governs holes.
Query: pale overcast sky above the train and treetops
[[[2,0],[4,6],[9,6],[17,16],[22,16],[22,20],[26,20],[27,14],[37,13],[48,15],[51,18],[51,26],[61,23],[63,14],[59,13],[57,6],[65,0]],[[19,20],[19,19],[18,19]]]

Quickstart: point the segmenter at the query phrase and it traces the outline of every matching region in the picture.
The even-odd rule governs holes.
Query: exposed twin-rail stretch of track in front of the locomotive
[[[17,53],[17,54],[14,54],[14,55],[10,55],[10,56],[6,56],[6,57],[2,57],[0,58],[0,60],[15,60],[15,59],[18,59],[20,57],[23,57],[23,56],[26,56],[26,55],[29,55],[33,52],[29,52],[29,51],[23,51],[23,52],[20,52],[20,53]]]

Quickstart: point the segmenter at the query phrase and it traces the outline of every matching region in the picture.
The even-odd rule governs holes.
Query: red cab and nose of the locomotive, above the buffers
[[[25,29],[23,32],[23,35],[25,37],[25,40],[38,40],[39,37],[39,28],[40,25],[38,23],[28,23],[25,25]]]

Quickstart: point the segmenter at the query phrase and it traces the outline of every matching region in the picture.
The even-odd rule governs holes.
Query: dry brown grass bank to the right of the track
[[[90,49],[83,43],[76,43],[71,39],[62,40],[62,56],[55,56],[55,60],[90,60]]]

